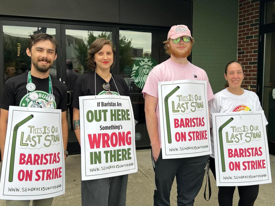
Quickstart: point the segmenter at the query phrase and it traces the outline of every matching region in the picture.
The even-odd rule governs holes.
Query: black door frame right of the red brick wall
[[[264,42],[265,34],[275,32],[275,23],[265,24],[265,7],[267,3],[274,0],[260,1],[260,25],[259,25],[259,46],[258,46],[258,73],[256,94],[262,104],[264,91]],[[275,142],[268,141],[269,153],[275,155]]]

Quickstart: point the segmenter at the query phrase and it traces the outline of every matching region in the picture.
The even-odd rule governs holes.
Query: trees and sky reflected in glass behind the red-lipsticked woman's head
[[[112,40],[112,32],[66,29],[66,60],[72,60],[78,75],[90,72],[87,65],[88,49],[98,38]]]

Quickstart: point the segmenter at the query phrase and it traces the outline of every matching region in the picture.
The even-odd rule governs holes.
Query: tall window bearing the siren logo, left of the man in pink
[[[137,147],[150,145],[141,91],[151,70],[169,58],[162,43],[166,39],[167,31],[119,31],[119,74],[125,79],[131,94],[134,117],[137,120],[135,126]]]

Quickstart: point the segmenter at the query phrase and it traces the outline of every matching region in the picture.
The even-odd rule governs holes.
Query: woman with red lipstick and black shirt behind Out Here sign
[[[91,73],[82,74],[74,86],[72,102],[74,131],[80,144],[79,97],[89,95],[129,96],[125,80],[110,73],[115,62],[115,49],[111,41],[96,39],[88,50]],[[126,204],[128,175],[81,181],[82,206],[123,206]]]

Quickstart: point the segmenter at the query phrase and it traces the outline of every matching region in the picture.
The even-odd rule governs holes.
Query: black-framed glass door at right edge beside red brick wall
[[[257,95],[268,121],[269,153],[275,155],[275,1],[260,1]]]

